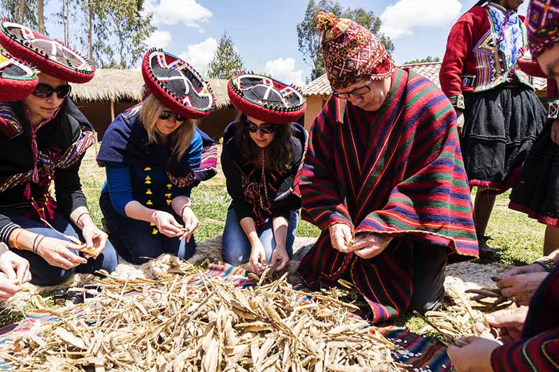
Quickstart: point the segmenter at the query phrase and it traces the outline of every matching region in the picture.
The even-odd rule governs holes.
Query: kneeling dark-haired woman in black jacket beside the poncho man
[[[222,256],[231,265],[250,261],[255,272],[279,261],[279,271],[293,254],[298,223],[293,184],[307,133],[293,121],[305,112],[305,98],[296,87],[248,73],[235,75],[227,88],[240,114],[224,132],[222,167],[233,200]]]

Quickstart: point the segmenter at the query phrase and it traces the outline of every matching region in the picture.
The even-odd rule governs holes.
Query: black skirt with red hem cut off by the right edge
[[[551,140],[549,119],[537,137],[512,189],[509,208],[559,228],[559,144]]]

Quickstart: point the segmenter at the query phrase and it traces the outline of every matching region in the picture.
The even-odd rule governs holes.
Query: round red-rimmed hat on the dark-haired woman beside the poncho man
[[[235,73],[227,93],[240,112],[273,124],[297,121],[307,108],[299,87],[255,73]]]

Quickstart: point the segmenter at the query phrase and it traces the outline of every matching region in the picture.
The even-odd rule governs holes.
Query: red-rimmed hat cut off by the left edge
[[[37,70],[0,47],[0,101],[21,101],[37,86]]]

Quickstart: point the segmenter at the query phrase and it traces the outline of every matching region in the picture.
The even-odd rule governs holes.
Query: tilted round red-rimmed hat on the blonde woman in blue
[[[151,49],[142,61],[147,92],[169,110],[189,119],[200,119],[215,108],[215,96],[194,67],[179,57]]]

